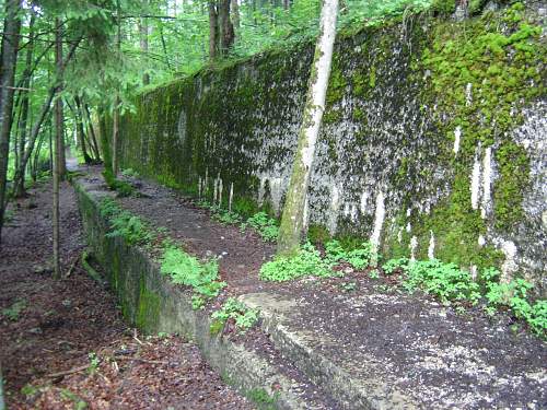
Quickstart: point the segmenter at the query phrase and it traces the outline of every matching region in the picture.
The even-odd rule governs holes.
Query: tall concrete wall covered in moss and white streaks
[[[462,22],[405,15],[340,35],[310,224],[369,238],[388,257],[474,272],[493,265],[542,286],[547,70],[537,4]],[[312,52],[302,44],[142,95],[123,121],[123,166],[240,212],[279,212]]]

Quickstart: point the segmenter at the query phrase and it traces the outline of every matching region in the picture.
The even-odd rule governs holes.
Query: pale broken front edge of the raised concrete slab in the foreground
[[[242,295],[240,301],[251,308],[260,311],[260,326],[266,333],[270,335],[276,349],[282,351],[312,383],[322,386],[344,408],[409,409],[420,407],[414,399],[385,380],[377,379],[374,368],[371,367],[366,378],[359,376],[356,378],[350,368],[344,368],[317,349],[313,349],[310,340],[313,341],[321,336],[290,330],[284,325],[284,318],[286,313],[294,307],[295,301],[266,293]]]

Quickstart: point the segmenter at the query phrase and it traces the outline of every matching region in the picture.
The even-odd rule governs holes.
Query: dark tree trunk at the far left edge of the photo
[[[5,209],[8,157],[10,155],[10,131],[13,110],[13,83],[18,65],[21,0],[5,1],[0,70],[0,242]]]

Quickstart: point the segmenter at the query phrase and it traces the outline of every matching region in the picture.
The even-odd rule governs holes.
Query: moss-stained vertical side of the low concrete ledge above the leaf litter
[[[294,383],[265,359],[222,335],[211,335],[210,317],[191,308],[191,295],[172,284],[143,249],[126,244],[121,237],[106,236],[108,222],[101,216],[98,203],[109,196],[107,192],[94,190],[81,179],[74,179],[72,185],[88,244],[131,325],[147,333],[178,333],[191,340],[211,367],[242,395],[256,400],[256,393],[266,393],[268,402],[256,402],[258,406],[306,407],[292,391]]]

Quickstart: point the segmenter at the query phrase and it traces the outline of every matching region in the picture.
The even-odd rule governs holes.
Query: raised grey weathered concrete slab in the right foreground
[[[438,303],[417,306],[404,295],[333,297],[322,291],[299,298],[267,293],[240,298],[260,309],[276,347],[344,408],[547,405],[546,349],[526,354],[531,340],[504,340],[507,330],[492,326],[482,328],[484,342],[477,344],[476,329]],[[415,312],[415,321],[388,314],[405,309]]]

